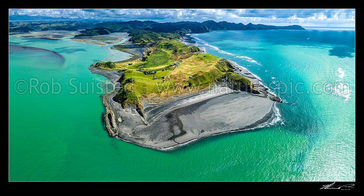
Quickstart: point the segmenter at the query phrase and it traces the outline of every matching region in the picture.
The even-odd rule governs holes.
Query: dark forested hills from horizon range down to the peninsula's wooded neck
[[[90,22],[90,21],[24,21],[9,22],[9,32],[30,32],[31,30],[80,30],[75,37],[98,36],[114,32],[127,32],[135,44],[159,40],[176,40],[187,33],[206,33],[211,30],[305,30],[299,25],[272,26],[249,23],[228,23],[207,20],[202,23],[181,21],[176,23],[158,23],[155,21],[127,22]]]

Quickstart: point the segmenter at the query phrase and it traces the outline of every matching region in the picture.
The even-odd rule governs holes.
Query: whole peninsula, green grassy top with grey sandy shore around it
[[[139,59],[96,62],[89,68],[115,85],[102,97],[110,136],[171,150],[275,118],[268,89],[232,62],[184,44],[182,36],[169,39],[146,30],[129,36],[143,48]]]

